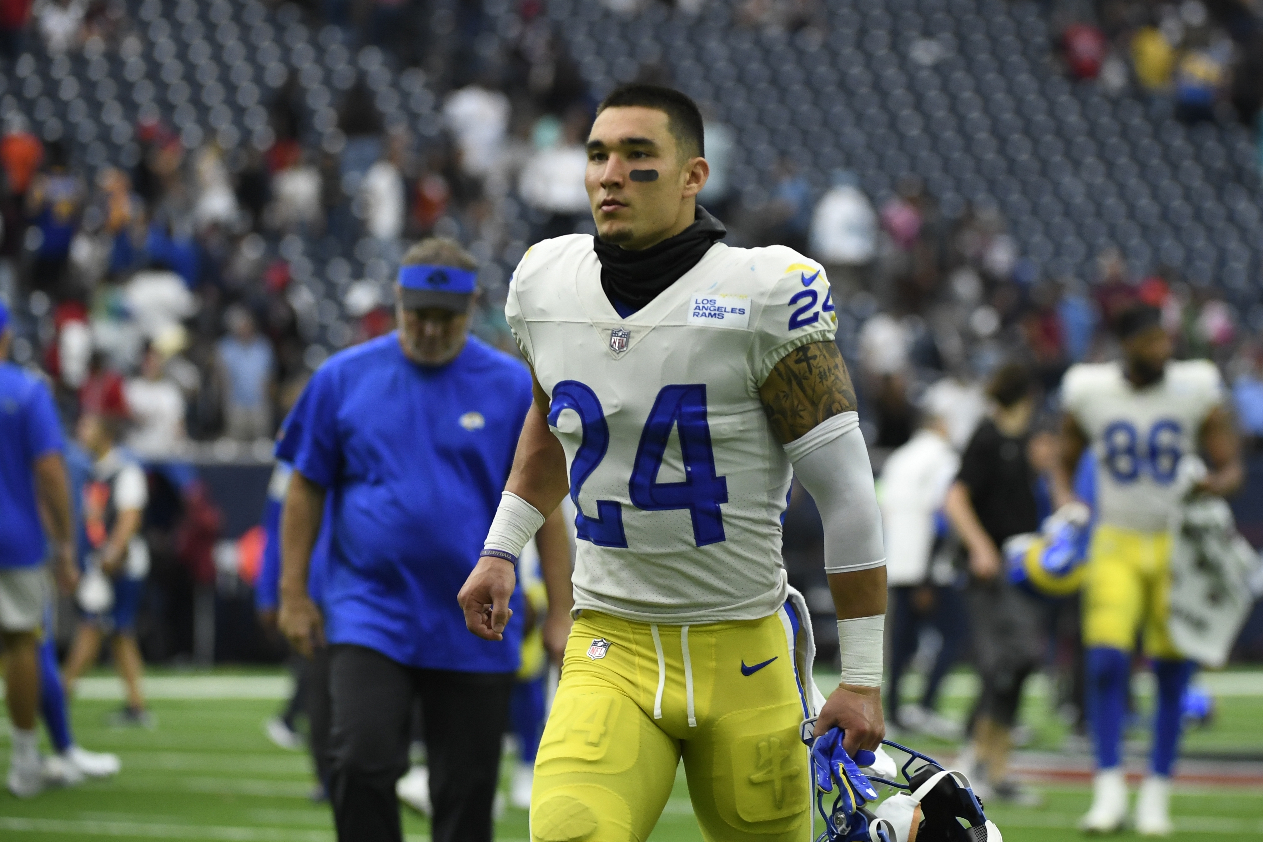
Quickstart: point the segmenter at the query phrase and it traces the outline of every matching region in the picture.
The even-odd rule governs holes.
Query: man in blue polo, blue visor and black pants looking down
[[[304,655],[330,645],[330,799],[338,839],[402,839],[395,781],[421,698],[436,842],[491,839],[500,737],[522,637],[465,630],[456,602],[500,501],[530,406],[530,374],[469,336],[474,259],[426,240],[403,259],[399,329],[314,374],[277,447],[293,462],[282,515],[280,627]],[[331,495],[321,612],[308,563]],[[554,515],[539,530],[560,653],[570,629],[570,550]]]

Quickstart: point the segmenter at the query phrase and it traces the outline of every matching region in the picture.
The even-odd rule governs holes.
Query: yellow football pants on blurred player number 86
[[[1140,634],[1151,658],[1182,658],[1167,632],[1171,537],[1103,524],[1087,558],[1084,645],[1132,651]]]

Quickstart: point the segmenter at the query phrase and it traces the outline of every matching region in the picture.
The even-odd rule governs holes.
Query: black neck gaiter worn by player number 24
[[[698,205],[692,225],[640,251],[629,251],[594,237],[596,258],[601,261],[601,289],[615,308],[621,303],[633,312],[638,311],[696,266],[702,255],[725,236],[727,228],[724,223]]]

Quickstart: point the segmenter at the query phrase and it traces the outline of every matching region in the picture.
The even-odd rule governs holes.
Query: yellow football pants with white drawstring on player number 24
[[[681,756],[707,842],[806,842],[811,771],[789,615],[697,626],[584,611],[544,727],[533,842],[643,842]]]

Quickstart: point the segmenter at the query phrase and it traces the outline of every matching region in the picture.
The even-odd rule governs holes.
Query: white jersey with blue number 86
[[[1100,523],[1162,531],[1177,505],[1180,457],[1197,453],[1201,425],[1223,403],[1219,369],[1207,360],[1168,362],[1162,380],[1137,389],[1119,362],[1076,365],[1061,401],[1096,454]]]

